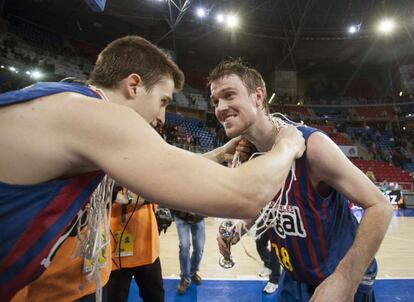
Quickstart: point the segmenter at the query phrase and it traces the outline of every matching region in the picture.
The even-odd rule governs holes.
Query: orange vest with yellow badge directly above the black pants
[[[119,238],[124,228],[123,236],[130,234],[133,244],[132,251],[130,251],[132,255],[121,256],[122,268],[151,264],[160,255],[160,238],[154,214],[154,205],[145,204],[140,207],[137,206],[134,212],[134,204],[124,207],[126,207],[126,211],[122,214],[122,205],[114,204],[112,206],[111,246],[113,270],[119,269],[119,250],[117,251],[117,244],[114,238],[116,234],[118,234]],[[129,219],[130,217],[131,219]],[[125,227],[126,223],[127,226]]]

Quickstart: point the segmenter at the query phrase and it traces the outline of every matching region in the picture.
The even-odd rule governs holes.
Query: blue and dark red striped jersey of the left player
[[[100,99],[75,83],[37,83],[0,95],[0,107],[62,92]],[[36,185],[0,183],[0,297],[5,301],[45,269],[41,265],[102,180],[101,171]]]

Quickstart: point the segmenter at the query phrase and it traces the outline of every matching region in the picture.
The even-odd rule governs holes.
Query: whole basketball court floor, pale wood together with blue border
[[[235,267],[226,270],[218,265],[217,228],[217,219],[206,220],[206,243],[199,272],[203,283],[199,286],[192,284],[184,295],[176,292],[180,269],[175,224],[171,225],[166,234],[161,234],[165,301],[276,301],[275,294],[266,295],[262,291],[267,280],[258,276],[262,265],[258,262],[259,256],[252,237],[244,238],[243,245],[239,243],[232,247]],[[257,261],[249,257],[245,249]],[[377,302],[414,302],[414,210],[394,212],[376,258],[379,265],[375,284]],[[141,301],[135,282],[131,283],[129,301]]]

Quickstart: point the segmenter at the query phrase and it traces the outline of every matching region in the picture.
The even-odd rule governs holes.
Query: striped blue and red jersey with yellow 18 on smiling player
[[[304,126],[298,129],[306,141],[312,133],[319,131]],[[332,189],[329,196],[322,197],[313,188],[306,163],[305,152],[295,162],[297,180],[293,181],[288,193],[288,205],[281,206],[276,224],[270,229],[270,239],[286,273],[296,281],[317,286],[334,272],[348,252],[358,221],[349,209],[349,201],[341,193]],[[289,180],[290,174],[285,192]],[[285,202],[284,193],[281,204]],[[360,285],[361,290],[371,290],[376,272],[377,265],[373,260]]]

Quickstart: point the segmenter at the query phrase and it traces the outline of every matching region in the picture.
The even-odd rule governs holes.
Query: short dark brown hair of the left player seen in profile
[[[139,74],[147,90],[163,77],[174,80],[175,89],[184,85],[184,74],[157,46],[139,36],[126,36],[111,42],[99,54],[90,83],[105,88],[116,87],[130,74]]]

